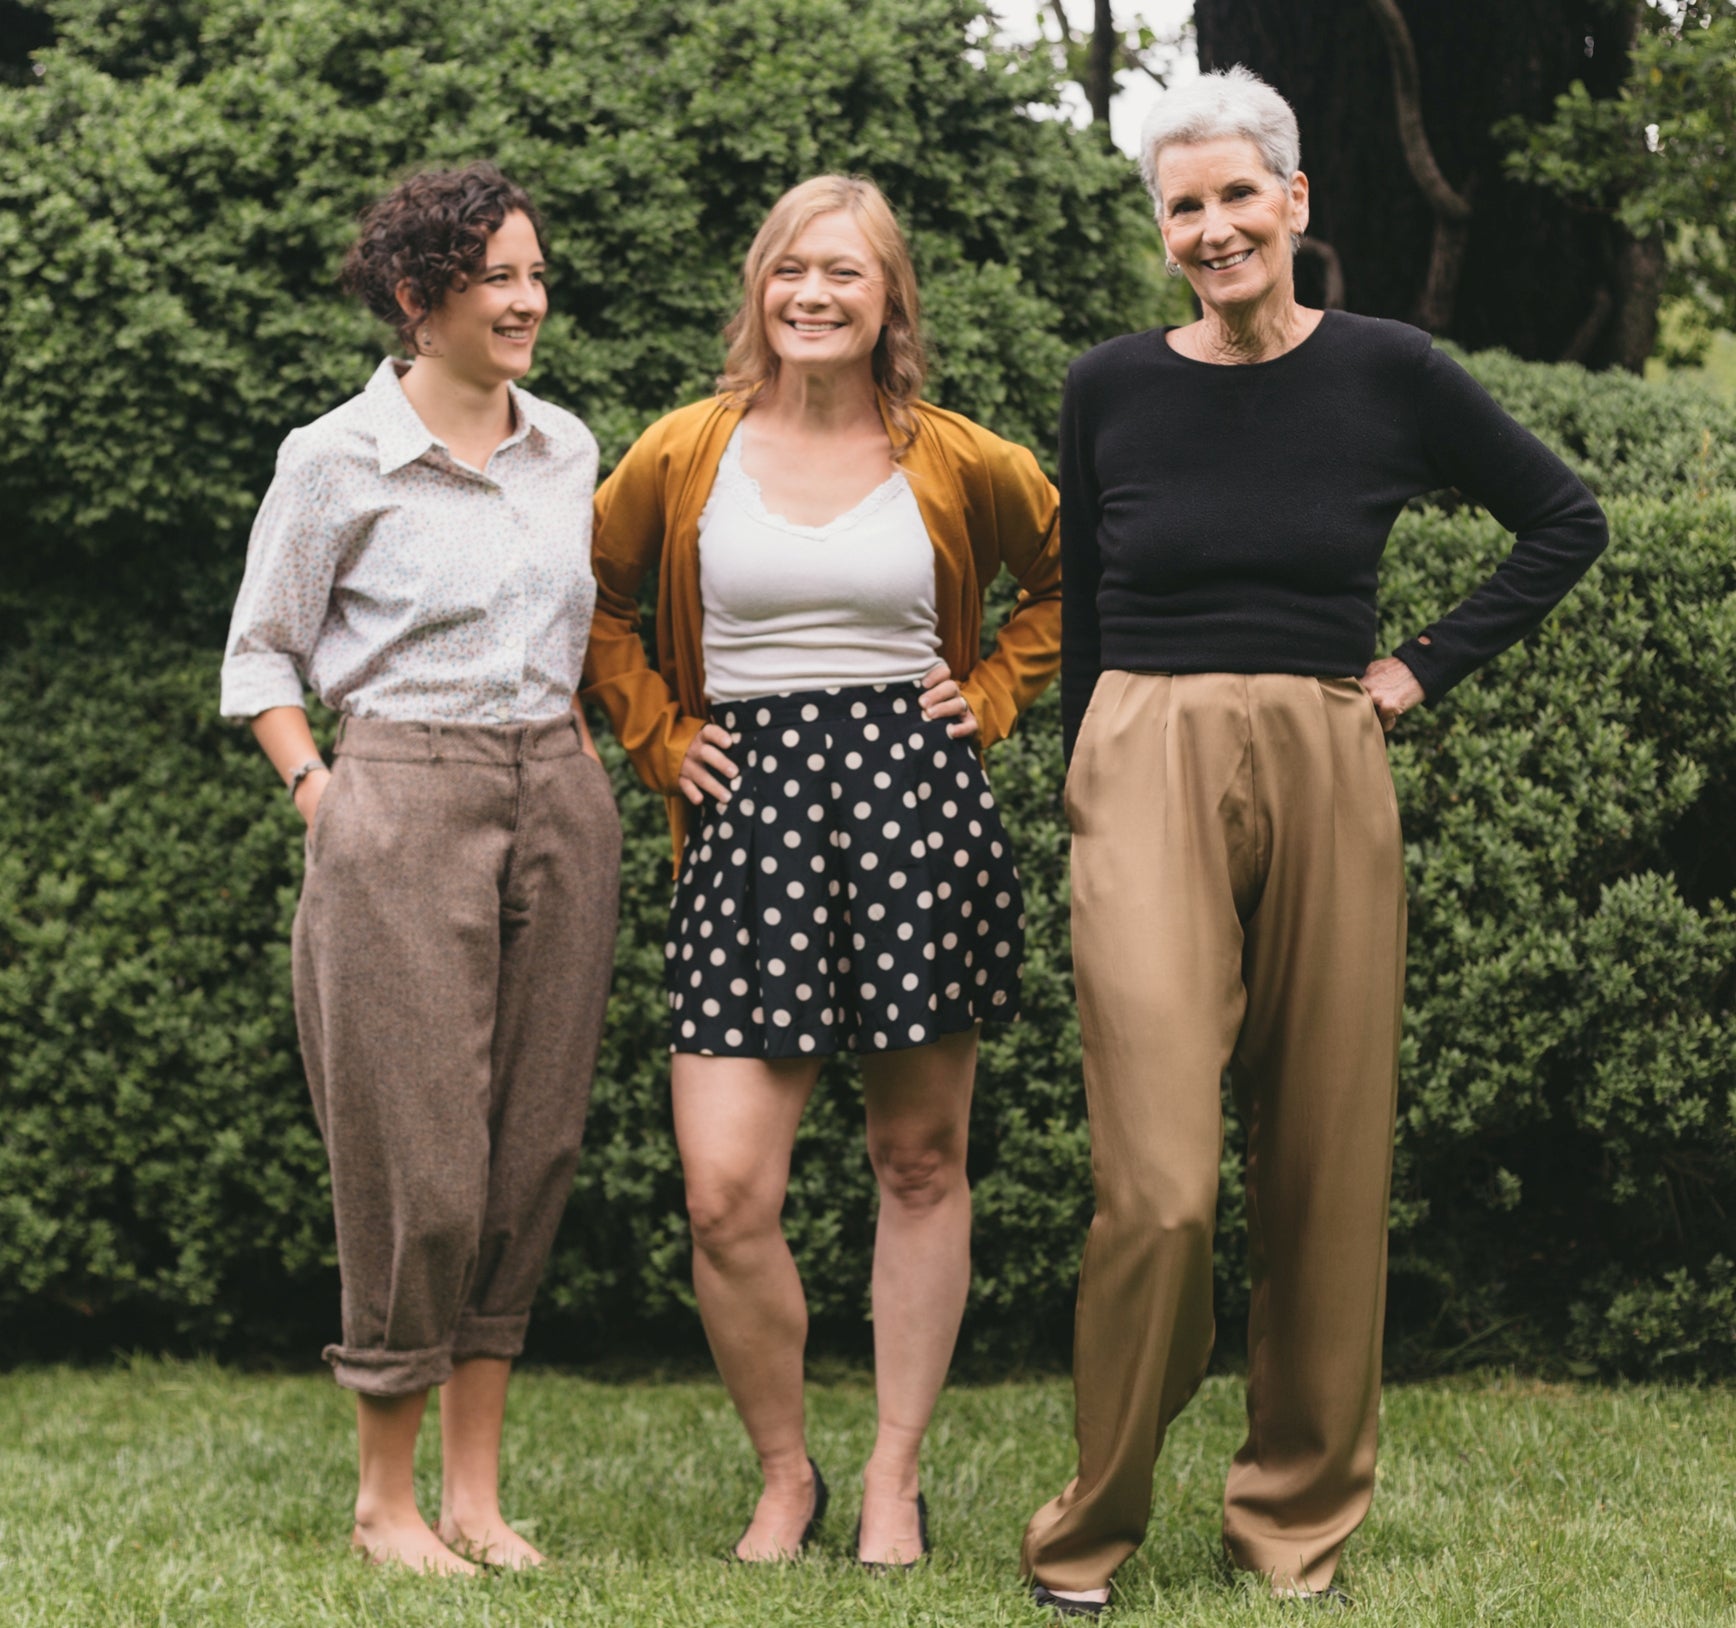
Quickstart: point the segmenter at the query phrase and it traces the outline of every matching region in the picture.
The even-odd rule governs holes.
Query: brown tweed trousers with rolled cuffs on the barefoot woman
[[[585,1130],[620,849],[571,715],[344,720],[293,934],[340,1385],[403,1395],[523,1349]]]

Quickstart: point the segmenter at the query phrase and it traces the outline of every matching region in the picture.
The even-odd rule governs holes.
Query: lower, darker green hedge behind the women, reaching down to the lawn
[[[1394,1333],[1632,1373],[1736,1371],[1736,495],[1614,500],[1599,569],[1392,746],[1411,890]],[[1389,637],[1500,555],[1403,517]],[[16,602],[0,717],[0,1310],[69,1342],[311,1350],[330,1220],[288,1010],[300,844],[215,710],[215,654],[108,606]],[[1710,677],[1708,677],[1710,675]],[[30,727],[17,720],[30,719]],[[668,1132],[661,807],[616,762],[623,935],[543,1352],[694,1336]],[[1028,882],[1026,1019],[974,1123],[981,1362],[1064,1354],[1090,1210],[1052,696],[991,758]],[[828,1074],[790,1227],[816,1340],[861,1349],[871,1191]],[[1226,1159],[1220,1309],[1243,1303]],[[87,1316],[89,1314],[89,1316]],[[47,1321],[45,1321],[47,1319]],[[40,1338],[38,1338],[40,1345]]]

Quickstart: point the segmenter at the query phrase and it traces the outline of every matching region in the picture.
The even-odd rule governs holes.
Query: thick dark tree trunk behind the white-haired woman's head
[[[1613,95],[1639,3],[1401,0],[1434,170],[1448,193],[1476,203],[1457,241],[1406,156],[1375,0],[1196,0],[1194,24],[1203,68],[1245,62],[1297,109],[1311,233],[1338,252],[1351,311],[1554,361],[1621,262],[1616,231],[1509,181],[1489,128],[1514,113],[1547,116],[1575,80]],[[1588,359],[1608,364],[1609,344],[1606,333]]]

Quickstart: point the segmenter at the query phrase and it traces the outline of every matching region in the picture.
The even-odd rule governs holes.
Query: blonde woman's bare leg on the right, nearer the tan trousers
[[[868,1158],[880,1184],[873,1251],[880,1425],[863,1470],[859,1557],[908,1562],[918,1456],[970,1291],[970,1085],[977,1031],[863,1059]]]

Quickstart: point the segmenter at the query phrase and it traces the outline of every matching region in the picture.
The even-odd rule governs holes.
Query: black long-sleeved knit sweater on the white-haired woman
[[[1061,713],[1097,675],[1358,677],[1404,503],[1457,486],[1516,533],[1457,609],[1394,653],[1434,701],[1522,639],[1608,540],[1585,484],[1429,335],[1328,311],[1293,351],[1222,366],[1167,330],[1082,356],[1061,401]]]

